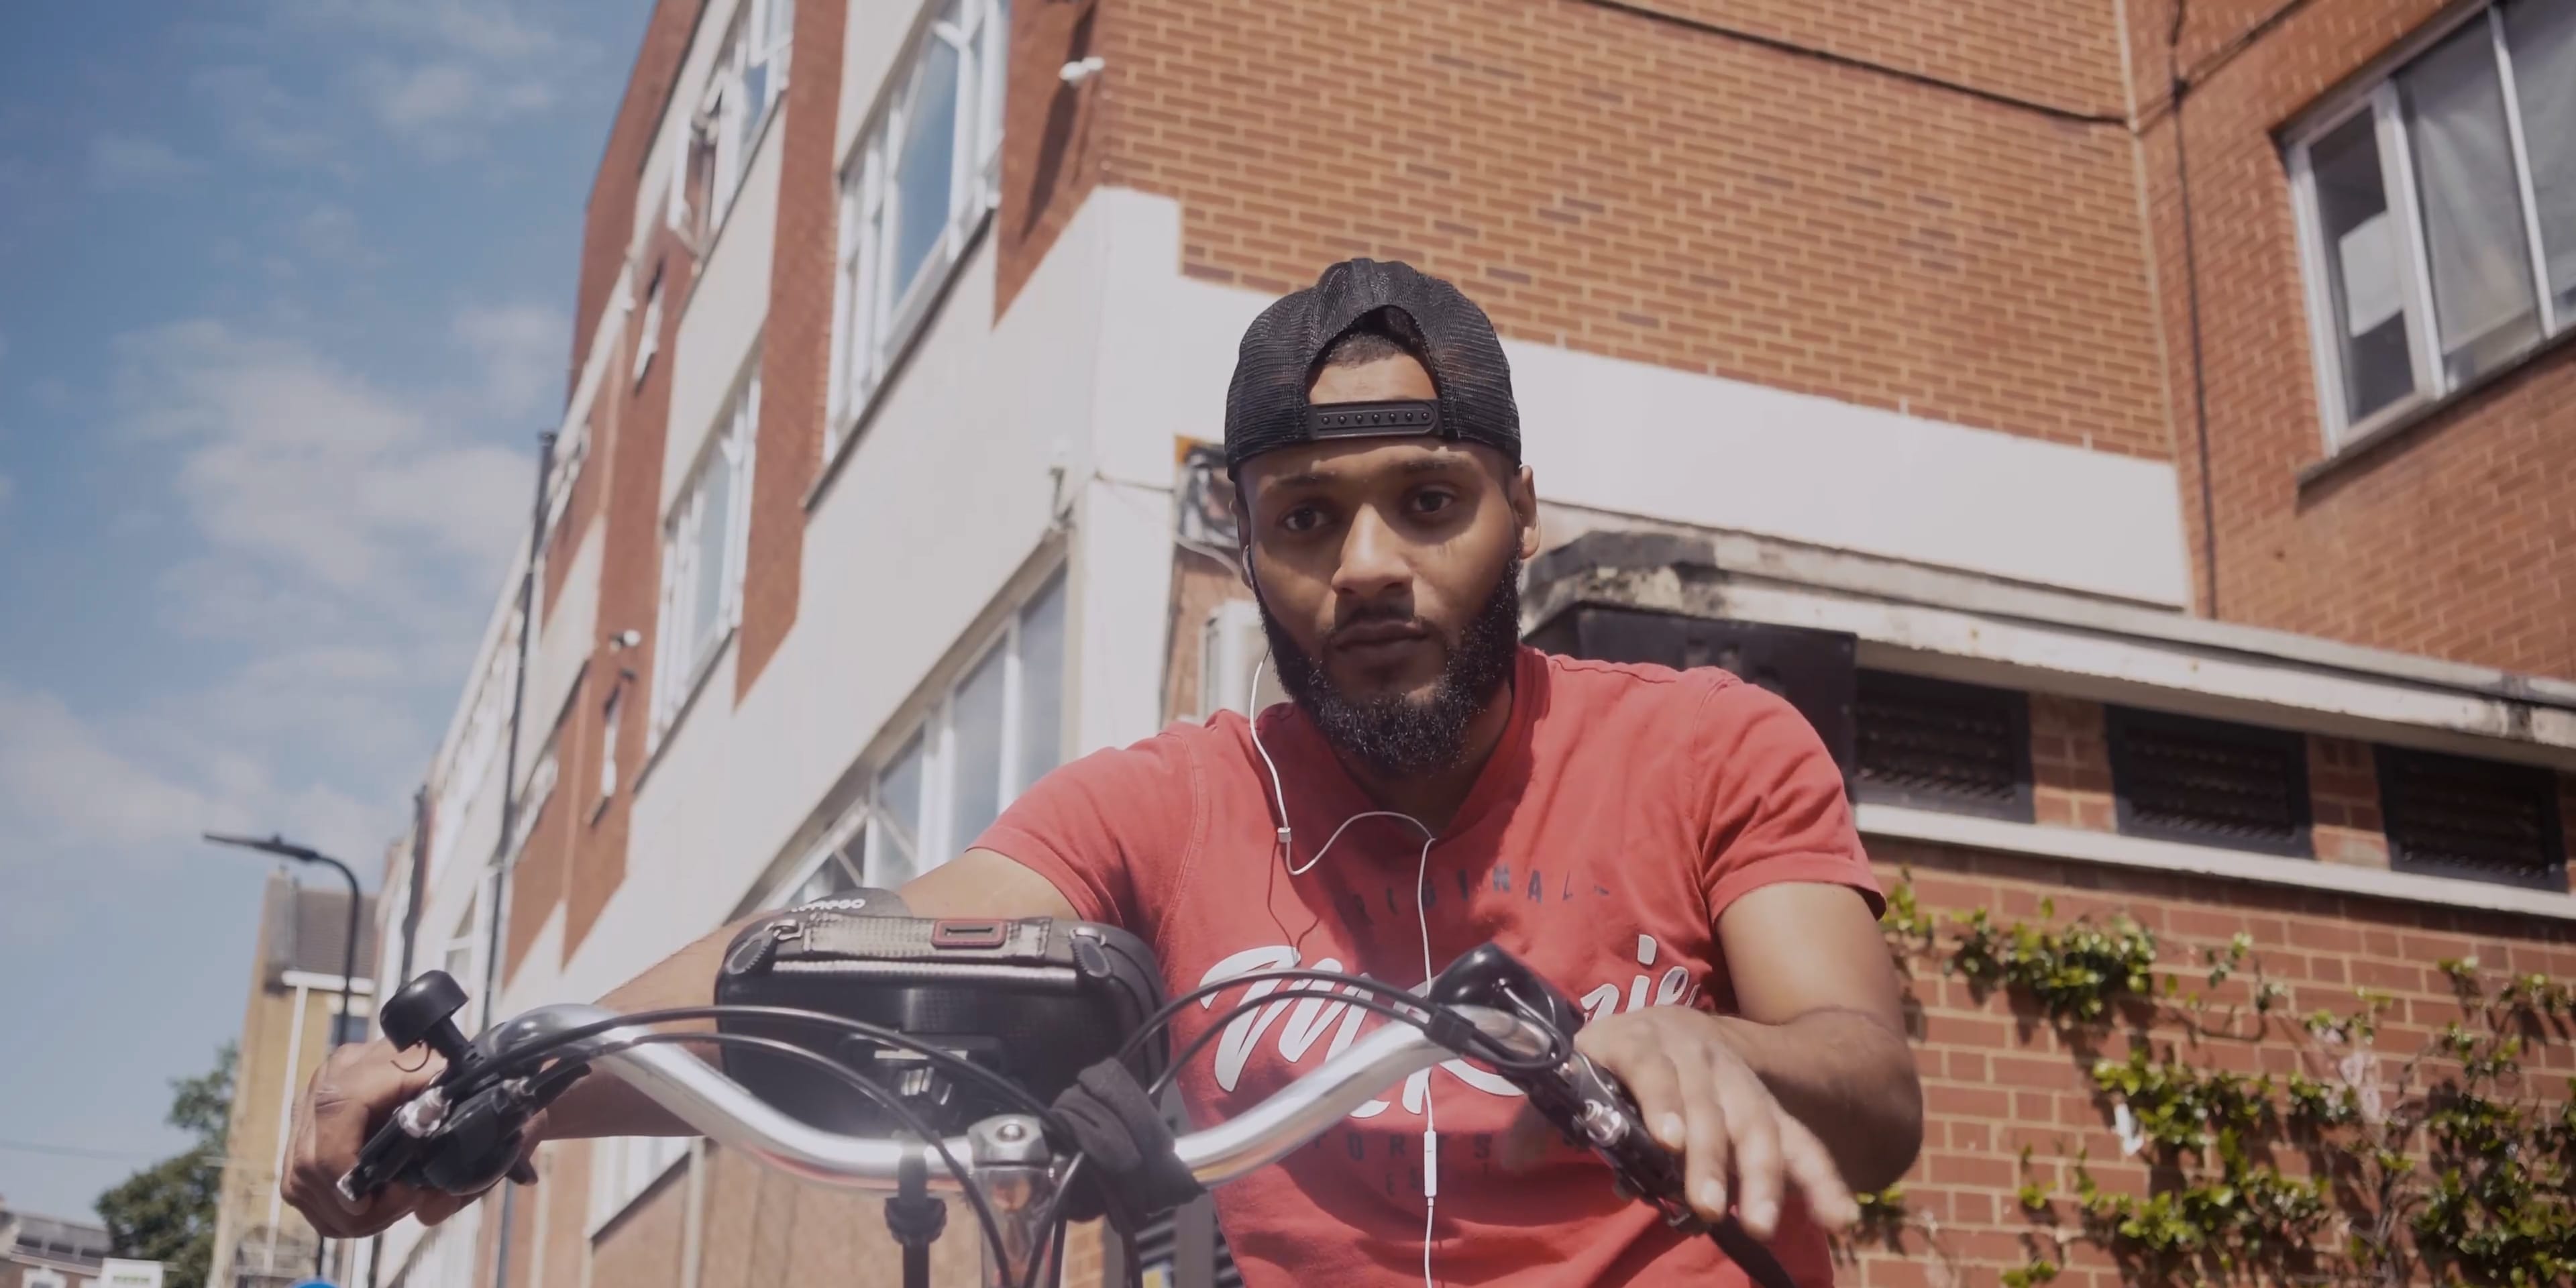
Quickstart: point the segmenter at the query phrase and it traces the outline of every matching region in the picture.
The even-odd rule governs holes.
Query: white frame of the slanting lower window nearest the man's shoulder
[[[796,868],[788,871],[788,878],[778,881],[770,889],[770,894],[760,902],[762,907],[783,907],[788,899],[796,896],[799,889],[804,889],[806,881],[814,878],[814,873],[822,871],[824,863],[840,863],[858,884],[878,881],[878,873],[866,871],[863,863],[850,863],[842,858],[853,845],[860,850],[860,855],[876,855],[884,853],[886,845],[899,845],[902,850],[907,850],[912,876],[922,876],[945,863],[948,858],[956,858],[958,853],[963,853],[969,842],[974,842],[974,837],[951,835],[956,829],[956,819],[951,817],[956,806],[956,760],[958,760],[956,701],[966,680],[974,677],[974,672],[997,652],[1002,657],[1002,747],[999,747],[1002,809],[1010,809],[1010,801],[1015,801],[1023,791],[1036,786],[1036,781],[1028,783],[1020,781],[1020,773],[1025,768],[1023,752],[1028,750],[1028,744],[1023,742],[1028,737],[1028,696],[1030,696],[1028,685],[1033,680],[1028,675],[1028,659],[1023,654],[1023,623],[1028,621],[1030,608],[1036,608],[1038,600],[1043,600],[1046,595],[1059,595],[1059,598],[1072,595],[1072,585],[1064,569],[1048,572],[1043,580],[1038,580],[1038,585],[1012,605],[1010,618],[1002,621],[1002,626],[994,629],[974,649],[974,654],[969,654],[966,665],[958,667],[956,675],[940,683],[938,698],[930,703],[930,711],[914,726],[909,726],[904,737],[894,739],[894,752],[886,755],[881,765],[868,768],[868,778],[858,791],[858,799],[850,801],[837,819],[832,819],[832,827],[824,829],[824,835],[814,842],[814,848],[806,850],[806,855],[796,863]],[[1064,765],[1066,760],[1064,739],[1069,734],[1066,716],[1072,714],[1072,703],[1061,701],[1074,675],[1074,636],[1072,636],[1069,603],[1064,605],[1064,611],[1066,611],[1064,618],[1066,634],[1059,657],[1061,670],[1056,675],[1059,724],[1056,724],[1054,765]],[[902,760],[904,752],[912,752],[914,747],[920,747],[922,752],[922,788],[912,814],[914,819],[920,819],[920,835],[896,840],[891,835],[896,824],[886,814],[886,809],[881,809],[884,778],[886,770],[896,760]],[[930,860],[927,855],[948,855],[948,858]]]

